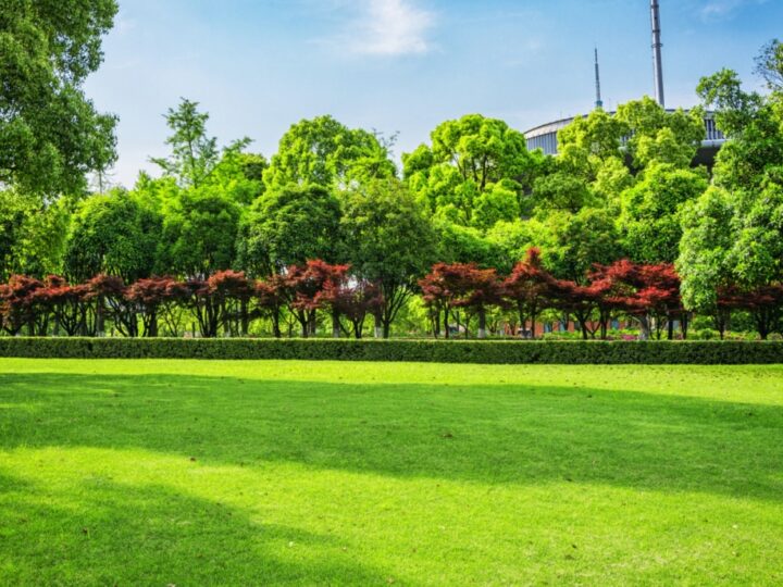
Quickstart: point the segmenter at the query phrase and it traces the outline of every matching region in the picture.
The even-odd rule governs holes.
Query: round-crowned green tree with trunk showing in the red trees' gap
[[[400,308],[435,261],[432,225],[413,195],[395,178],[355,186],[341,201],[345,260],[358,277],[381,289],[376,335],[381,329],[388,338]]]

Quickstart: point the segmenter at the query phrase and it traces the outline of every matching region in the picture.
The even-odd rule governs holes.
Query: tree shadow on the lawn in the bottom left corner
[[[4,477],[2,480],[8,479]],[[22,482],[25,483],[25,482]],[[78,491],[0,496],[5,585],[378,584],[337,538],[256,523],[243,510],[159,486],[102,479]]]

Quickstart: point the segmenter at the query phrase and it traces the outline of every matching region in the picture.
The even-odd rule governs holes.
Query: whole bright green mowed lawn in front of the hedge
[[[0,584],[783,583],[783,366],[0,360]]]

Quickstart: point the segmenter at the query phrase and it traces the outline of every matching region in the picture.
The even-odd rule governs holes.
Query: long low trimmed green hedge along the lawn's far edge
[[[783,363],[783,342],[0,337],[0,357],[489,364],[769,364]]]

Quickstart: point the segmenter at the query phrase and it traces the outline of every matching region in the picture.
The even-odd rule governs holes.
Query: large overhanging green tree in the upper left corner
[[[100,65],[114,0],[16,0],[0,7],[0,183],[54,197],[114,162],[116,118],[82,86]]]

